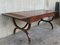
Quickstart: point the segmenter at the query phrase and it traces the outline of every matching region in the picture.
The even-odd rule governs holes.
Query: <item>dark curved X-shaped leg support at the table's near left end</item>
[[[16,28],[14,28],[14,31],[13,31],[13,34],[15,34],[15,32],[16,32],[16,29],[20,29],[20,30],[22,30],[26,35],[27,35],[27,38],[28,38],[28,41],[29,41],[29,43],[30,43],[30,37],[28,36],[28,30],[30,29],[30,27],[31,27],[31,23],[29,22],[27,22],[26,23],[26,25],[24,26],[24,27],[19,27],[17,24],[16,24],[16,22],[15,22],[15,19],[13,18],[13,23],[14,23],[14,25],[15,25],[15,27]],[[25,29],[26,27],[28,26],[28,28],[27,29]]]

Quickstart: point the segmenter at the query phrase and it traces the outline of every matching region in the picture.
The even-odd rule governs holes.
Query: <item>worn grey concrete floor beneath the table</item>
[[[9,35],[0,39],[0,45],[60,45],[60,26],[53,23],[54,29],[48,23],[32,27],[28,32],[31,43],[28,44],[27,37],[22,31],[16,35]]]

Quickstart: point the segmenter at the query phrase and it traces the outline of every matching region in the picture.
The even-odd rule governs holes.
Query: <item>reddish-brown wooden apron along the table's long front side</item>
[[[55,14],[54,13],[48,13],[48,14],[43,14],[43,15],[38,15],[38,16],[33,16],[30,17],[30,22],[35,22],[38,20],[41,20],[41,18],[45,18],[45,17],[53,17]]]

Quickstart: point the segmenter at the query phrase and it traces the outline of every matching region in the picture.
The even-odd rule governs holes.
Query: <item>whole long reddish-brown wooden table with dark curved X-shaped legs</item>
[[[28,30],[31,27],[31,23],[33,23],[35,21],[38,21],[38,25],[39,25],[40,21],[48,22],[51,25],[52,29],[53,29],[53,25],[51,23],[53,18],[51,20],[44,20],[43,18],[45,18],[45,17],[54,17],[55,16],[55,11],[52,11],[52,10],[32,10],[32,11],[20,11],[20,12],[3,13],[2,15],[12,17],[13,23],[15,25],[13,33],[15,34],[17,29],[22,30],[24,33],[26,33],[26,35],[28,37],[28,41],[30,43],[30,37],[28,36]],[[25,21],[26,25],[22,28],[19,27],[16,24],[15,19]]]

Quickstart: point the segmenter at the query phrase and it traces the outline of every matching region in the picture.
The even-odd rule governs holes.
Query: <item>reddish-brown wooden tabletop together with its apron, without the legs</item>
[[[20,11],[20,12],[4,13],[2,15],[17,18],[17,19],[20,19],[23,21],[30,20],[30,22],[35,22],[41,18],[54,16],[55,11],[52,11],[52,10],[32,10],[32,11]]]

